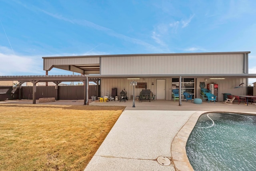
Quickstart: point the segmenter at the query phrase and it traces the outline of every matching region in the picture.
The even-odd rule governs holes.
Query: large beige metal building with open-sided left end
[[[179,54],[124,54],[96,56],[43,57],[46,75],[52,68],[59,68],[100,79],[100,95],[109,94],[116,87],[118,93],[126,89],[133,97],[131,81],[136,81],[135,95],[150,89],[157,100],[172,99],[172,89],[189,91],[200,98],[200,82],[218,84],[218,99],[223,93],[246,94],[246,88],[234,89],[241,83],[248,84],[248,54],[250,52],[211,52]],[[88,79],[87,79],[88,80]]]

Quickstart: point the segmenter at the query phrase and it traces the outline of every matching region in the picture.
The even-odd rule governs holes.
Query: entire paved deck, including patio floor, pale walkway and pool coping
[[[27,103],[32,100],[0,101],[0,103]],[[38,101],[36,101],[38,103]],[[83,100],[58,100],[52,105],[83,105]],[[39,104],[39,103],[38,103]],[[191,101],[135,101],[95,102],[90,105],[125,105],[124,112],[95,153],[85,171],[189,171],[193,170],[186,156],[186,141],[202,113],[238,112],[256,114],[256,105],[224,104],[222,102]],[[157,158],[166,157],[162,164]],[[170,165],[163,165],[170,159]]]

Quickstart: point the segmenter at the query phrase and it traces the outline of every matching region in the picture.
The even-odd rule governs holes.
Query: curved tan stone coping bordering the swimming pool
[[[223,111],[196,111],[191,115],[188,121],[183,125],[180,131],[175,135],[172,145],[171,145],[171,154],[172,154],[172,163],[176,171],[194,171],[191,166],[188,156],[186,154],[186,143],[188,141],[188,137],[192,130],[194,129],[198,118],[205,114],[211,112],[220,112],[227,113]],[[230,113],[240,113],[246,115],[256,115],[256,113],[252,112],[230,112]]]

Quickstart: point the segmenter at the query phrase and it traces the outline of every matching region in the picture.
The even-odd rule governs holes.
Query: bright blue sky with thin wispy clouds
[[[44,56],[233,51],[250,51],[249,73],[256,73],[255,0],[0,4],[0,76],[45,75]]]

